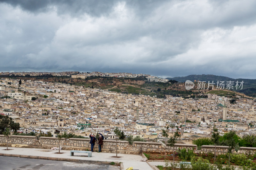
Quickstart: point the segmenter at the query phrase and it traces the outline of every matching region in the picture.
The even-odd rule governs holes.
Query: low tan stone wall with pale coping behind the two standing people
[[[0,146],[6,146],[7,138],[4,135],[0,135]],[[60,146],[67,150],[91,150],[91,144],[89,144],[90,139],[80,139],[80,138],[61,138]],[[27,148],[42,148],[51,149],[53,147],[59,146],[59,139],[56,137],[37,137],[34,136],[16,136],[12,135],[8,139],[8,146],[12,147],[27,147]],[[141,154],[144,153],[164,153],[164,144],[156,142],[133,142],[129,144],[128,141],[117,141],[117,151],[118,153],[127,154]],[[189,148],[193,149],[195,152],[212,152],[214,153],[214,147],[210,145],[203,145],[201,151],[197,150],[197,146],[194,144],[174,144],[174,149],[177,151],[179,148]],[[98,144],[95,143],[94,151],[98,150]],[[166,153],[172,153],[172,147],[166,146]],[[227,153],[228,146],[216,146],[218,154]],[[102,152],[116,152],[116,140],[103,140]],[[234,151],[235,152],[235,151]],[[240,147],[240,153],[254,154],[256,153],[256,148]]]

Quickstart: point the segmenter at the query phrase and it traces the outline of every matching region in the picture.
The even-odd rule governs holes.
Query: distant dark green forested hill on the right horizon
[[[186,80],[190,80],[190,81],[194,81],[194,80],[199,80],[199,81],[210,81],[210,82],[214,82],[216,83],[217,81],[238,81],[238,82],[242,82],[244,81],[243,84],[243,89],[234,89],[234,91],[236,92],[241,92],[244,93],[248,96],[252,96],[252,97],[256,97],[256,79],[245,79],[245,78],[228,78],[228,77],[224,77],[224,76],[216,76],[216,75],[212,75],[212,74],[202,74],[202,75],[189,75],[189,76],[185,76],[185,77],[174,77],[174,78],[167,78],[167,79],[172,79],[172,80],[176,80],[179,82],[185,82]]]

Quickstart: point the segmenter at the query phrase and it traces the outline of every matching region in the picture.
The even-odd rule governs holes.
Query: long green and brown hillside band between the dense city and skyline
[[[195,83],[195,87],[191,90],[185,89],[184,83],[161,83],[161,82],[148,82],[146,77],[138,77],[138,78],[116,78],[116,77],[88,77],[86,79],[81,78],[70,78],[70,77],[56,77],[56,76],[43,76],[43,77],[13,77],[12,75],[4,76],[4,78],[16,78],[16,79],[25,79],[25,80],[42,80],[48,82],[59,82],[66,83],[70,85],[79,85],[84,86],[84,88],[100,88],[113,92],[122,92],[122,93],[131,93],[131,94],[144,94],[150,96],[156,96],[158,98],[165,98],[165,95],[172,96],[182,96],[184,98],[189,97],[207,97],[207,96],[199,96],[199,93],[207,93],[210,89],[197,89],[197,83]],[[244,88],[237,92],[242,92],[248,96],[254,97],[256,94],[256,83],[255,80],[249,79],[229,79],[227,77],[222,76],[214,76],[214,75],[190,75],[187,77],[180,78],[169,78],[176,79],[177,81],[186,81],[186,80],[201,80],[202,81],[244,81]],[[203,79],[204,78],[204,79]],[[220,78],[220,79],[218,79]],[[248,81],[247,81],[248,80]],[[243,94],[239,94],[243,96]],[[227,95],[228,97],[235,97],[235,95]]]

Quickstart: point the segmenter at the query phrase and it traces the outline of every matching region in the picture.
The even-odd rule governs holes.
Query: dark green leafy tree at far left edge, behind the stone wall
[[[20,129],[20,123],[15,123],[9,116],[0,115],[0,134],[3,134],[6,128],[17,132]]]

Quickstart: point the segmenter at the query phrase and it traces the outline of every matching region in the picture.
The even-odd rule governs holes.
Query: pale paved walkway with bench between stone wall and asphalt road
[[[62,154],[56,154],[58,150],[51,149],[37,149],[37,148],[16,148],[8,147],[12,150],[4,150],[6,147],[0,147],[0,153],[3,154],[18,154],[18,155],[29,155],[37,157],[50,157],[50,158],[63,158],[63,159],[78,159],[84,162],[123,162],[124,169],[132,166],[133,169],[138,170],[152,170],[152,168],[147,164],[147,162],[141,162],[142,156],[133,154],[121,154],[118,153],[117,156],[121,158],[112,158],[116,156],[116,153],[106,153],[106,152],[92,152],[92,157],[88,158],[87,153],[74,153],[74,156],[70,156],[70,150],[61,150]],[[32,157],[30,157],[32,158]],[[65,161],[65,160],[64,160]]]

